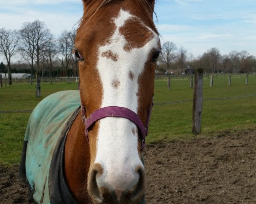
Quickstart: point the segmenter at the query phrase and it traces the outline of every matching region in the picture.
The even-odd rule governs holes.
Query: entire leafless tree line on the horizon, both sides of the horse
[[[6,59],[7,65],[0,65],[0,72],[11,74],[17,68],[17,59],[11,64],[13,57],[19,56],[19,60],[25,65],[23,70],[32,75],[45,73],[52,77],[52,72],[58,71],[62,76],[77,76],[77,59],[72,55],[76,30],[62,31],[59,37],[54,37],[44,22],[23,23],[20,30],[0,29],[0,54]],[[229,54],[221,55],[218,48],[211,48],[201,56],[195,58],[182,46],[177,48],[174,42],[165,42],[162,45],[162,55],[157,62],[157,71],[160,73],[176,74],[190,72],[195,68],[204,68],[205,73],[232,73],[232,72],[255,72],[256,57],[247,51],[231,51]],[[4,68],[7,68],[5,71]],[[70,70],[73,70],[70,71]]]

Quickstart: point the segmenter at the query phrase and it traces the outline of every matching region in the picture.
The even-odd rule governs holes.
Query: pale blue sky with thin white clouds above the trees
[[[156,0],[155,12],[161,42],[174,42],[195,58],[211,48],[256,56],[255,0]],[[38,19],[58,37],[77,28],[82,13],[82,0],[0,0],[0,28],[19,30]]]

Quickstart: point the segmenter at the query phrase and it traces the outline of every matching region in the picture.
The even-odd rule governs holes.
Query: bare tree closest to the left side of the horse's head
[[[68,81],[69,81],[69,76],[67,73],[67,68],[70,63],[70,59],[72,57],[72,50],[73,50],[73,44],[70,38],[71,35],[72,35],[71,31],[65,30],[65,31],[62,31],[61,36],[58,38],[58,50],[59,50],[59,54],[61,55],[59,57],[59,60],[66,72]]]

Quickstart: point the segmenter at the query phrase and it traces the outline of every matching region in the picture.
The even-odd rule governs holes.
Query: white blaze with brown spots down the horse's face
[[[119,32],[119,28],[131,19],[138,20],[137,17],[122,9],[118,17],[112,19],[116,28],[111,38],[108,39],[108,44],[99,47],[97,69],[103,86],[101,108],[120,106],[137,113],[138,78],[143,72],[151,49],[157,48],[159,38],[148,28],[149,32],[154,33],[153,39],[141,48],[125,51],[124,47],[129,42]],[[102,57],[102,53],[108,51],[118,56],[117,61]],[[130,71],[134,76],[133,80],[129,78]],[[113,86],[113,81],[119,82],[116,88]],[[102,165],[104,174],[101,178],[97,178],[98,184],[108,183],[114,190],[125,190],[137,183],[139,175],[134,173],[134,168],[138,165],[143,167],[143,164],[137,150],[138,137],[134,136],[132,128],[137,127],[133,122],[124,118],[108,117],[99,121],[95,163]]]

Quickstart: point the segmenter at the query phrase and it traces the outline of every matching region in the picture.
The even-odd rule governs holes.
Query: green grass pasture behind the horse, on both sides
[[[231,86],[228,86],[227,76],[215,78],[212,88],[209,83],[209,79],[205,78],[202,135],[211,136],[256,125],[256,96],[233,98],[256,94],[255,75],[249,76],[249,85],[245,85],[244,75],[232,78]],[[44,97],[63,90],[77,90],[77,84],[42,83],[42,97],[36,98],[35,85],[14,83],[0,88],[0,111],[33,110]],[[167,90],[166,80],[155,81],[155,105],[147,143],[195,137],[191,134],[192,97],[193,89],[189,88],[187,77],[171,79],[171,90]],[[161,103],[169,104],[160,105]],[[30,113],[0,113],[0,164],[19,163],[29,115]]]

